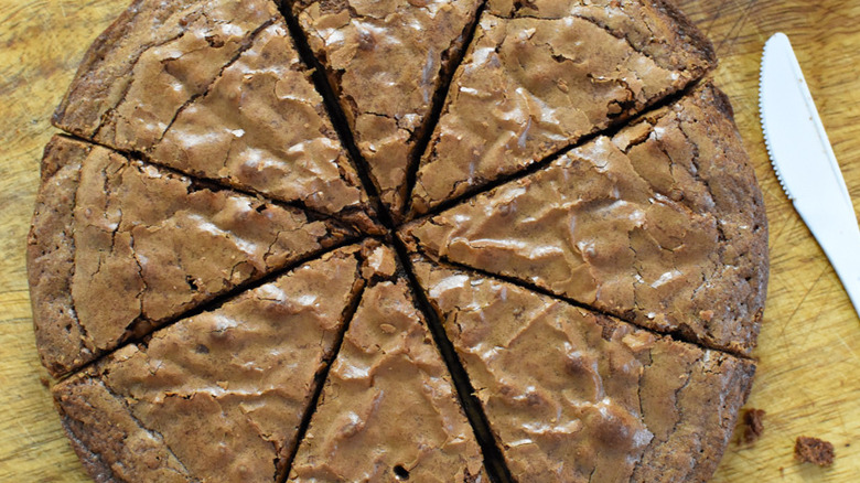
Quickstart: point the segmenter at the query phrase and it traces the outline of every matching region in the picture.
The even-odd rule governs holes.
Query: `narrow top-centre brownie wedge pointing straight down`
[[[399,216],[434,98],[462,55],[480,0],[295,0],[383,202]],[[439,93],[444,94],[444,93]]]

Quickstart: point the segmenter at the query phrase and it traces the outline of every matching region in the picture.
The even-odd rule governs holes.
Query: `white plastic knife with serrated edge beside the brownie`
[[[785,34],[762,55],[759,109],[767,154],[788,200],[860,314],[860,227],[834,149]]]

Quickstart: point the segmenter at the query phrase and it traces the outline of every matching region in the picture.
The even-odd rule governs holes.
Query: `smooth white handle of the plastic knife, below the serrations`
[[[797,202],[795,208],[834,266],[854,312],[860,314],[860,227],[853,210],[825,203],[802,206]]]

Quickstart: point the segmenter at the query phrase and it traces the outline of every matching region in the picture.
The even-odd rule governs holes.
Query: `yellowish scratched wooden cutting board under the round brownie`
[[[860,320],[767,162],[757,122],[761,49],[786,32],[860,201],[860,2],[679,0],[721,58],[718,84],[764,191],[771,286],[749,407],[767,411],[753,446],[733,440],[717,482],[854,482],[860,474]],[[39,364],[24,244],[49,118],[84,51],[128,0],[0,0],[0,481],[84,482]],[[860,247],[858,247],[860,256]],[[836,446],[830,469],[793,460],[794,440]]]

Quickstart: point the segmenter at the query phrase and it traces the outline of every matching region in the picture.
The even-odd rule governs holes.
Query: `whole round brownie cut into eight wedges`
[[[135,0],[57,109],[36,344],[99,482],[701,482],[762,196],[663,0]]]

